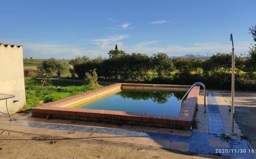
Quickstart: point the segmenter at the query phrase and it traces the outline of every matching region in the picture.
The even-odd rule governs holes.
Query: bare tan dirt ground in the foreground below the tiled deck
[[[1,132],[0,132],[1,133]],[[219,158],[193,156],[161,148],[88,139],[2,132],[0,158]]]

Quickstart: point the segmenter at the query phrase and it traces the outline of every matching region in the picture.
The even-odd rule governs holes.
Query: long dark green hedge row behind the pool
[[[236,57],[235,87],[255,90],[255,59]],[[170,59],[167,54],[116,54],[109,59],[87,60],[74,64],[75,73],[83,79],[96,69],[99,79],[155,84],[204,82],[208,88],[229,89],[231,85],[231,54],[217,53],[208,59]]]

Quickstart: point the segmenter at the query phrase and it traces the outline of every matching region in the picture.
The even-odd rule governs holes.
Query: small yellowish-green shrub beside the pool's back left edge
[[[90,90],[98,89],[98,75],[95,71],[89,71],[85,73],[85,84],[88,86]]]

